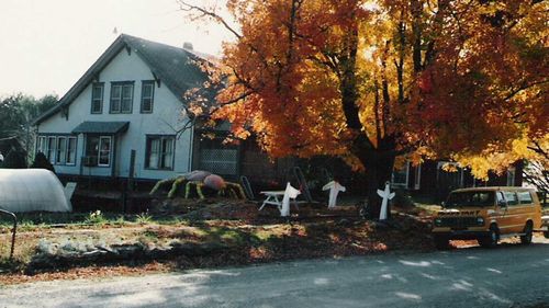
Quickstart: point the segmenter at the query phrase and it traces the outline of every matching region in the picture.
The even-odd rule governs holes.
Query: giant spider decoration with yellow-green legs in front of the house
[[[194,186],[197,195],[200,198],[204,198],[204,194],[202,192],[202,187],[208,187],[217,192],[220,196],[229,196],[234,198],[245,199],[246,195],[244,194],[244,190],[238,183],[225,182],[223,178],[217,174],[213,174],[208,171],[194,170],[189,173],[160,180],[156,183],[156,185],[150,191],[150,194],[155,194],[158,190],[167,190],[170,187],[168,192],[168,197],[172,198],[177,195],[177,193],[184,185],[184,198],[189,198],[189,194],[191,187]]]

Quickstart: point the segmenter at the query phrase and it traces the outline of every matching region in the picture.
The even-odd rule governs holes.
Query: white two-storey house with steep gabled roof
[[[120,35],[58,104],[34,121],[36,151],[60,175],[127,178],[132,150],[136,179],[166,179],[200,167],[236,174],[235,149],[204,147],[199,159],[195,128],[177,134],[188,119],[184,93],[205,80],[200,61],[189,48]]]

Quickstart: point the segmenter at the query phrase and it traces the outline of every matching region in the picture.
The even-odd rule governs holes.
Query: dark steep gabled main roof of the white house
[[[189,89],[198,87],[206,80],[205,73],[198,66],[198,62],[203,62],[205,59],[183,48],[121,34],[59,102],[36,117],[32,124],[37,125],[70,105],[124,48],[128,53],[135,53],[147,64],[155,78],[159,79],[161,84],[166,84],[182,103],[186,103],[183,95]]]

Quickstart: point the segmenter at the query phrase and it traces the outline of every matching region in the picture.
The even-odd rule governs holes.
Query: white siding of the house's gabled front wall
[[[154,80],[150,68],[139,58],[136,52],[122,49],[110,64],[98,75],[98,82],[104,82],[103,107],[101,114],[91,114],[92,82],[69,105],[68,118],[60,112],[43,121],[37,126],[40,135],[71,134],[72,129],[83,121],[94,122],[130,122],[127,132],[116,135],[115,152],[111,155],[111,167],[82,167],[85,155],[85,135],[78,135],[76,166],[55,166],[59,174],[80,174],[92,176],[127,178],[130,172],[131,150],[136,151],[135,174],[137,179],[166,179],[178,173],[190,171],[192,151],[192,129],[187,129],[175,145],[173,170],[145,169],[146,135],[176,135],[178,123],[181,123],[181,101],[163,83],[155,83],[153,113],[141,113],[141,94],[143,80]],[[133,81],[133,103],[131,114],[111,114],[111,82]],[[115,158],[115,160],[113,160]],[[112,163],[114,162],[114,168]]]

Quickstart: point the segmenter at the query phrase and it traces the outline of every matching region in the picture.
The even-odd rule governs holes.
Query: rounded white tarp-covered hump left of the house
[[[0,169],[0,208],[14,213],[72,210],[61,182],[45,169]]]

